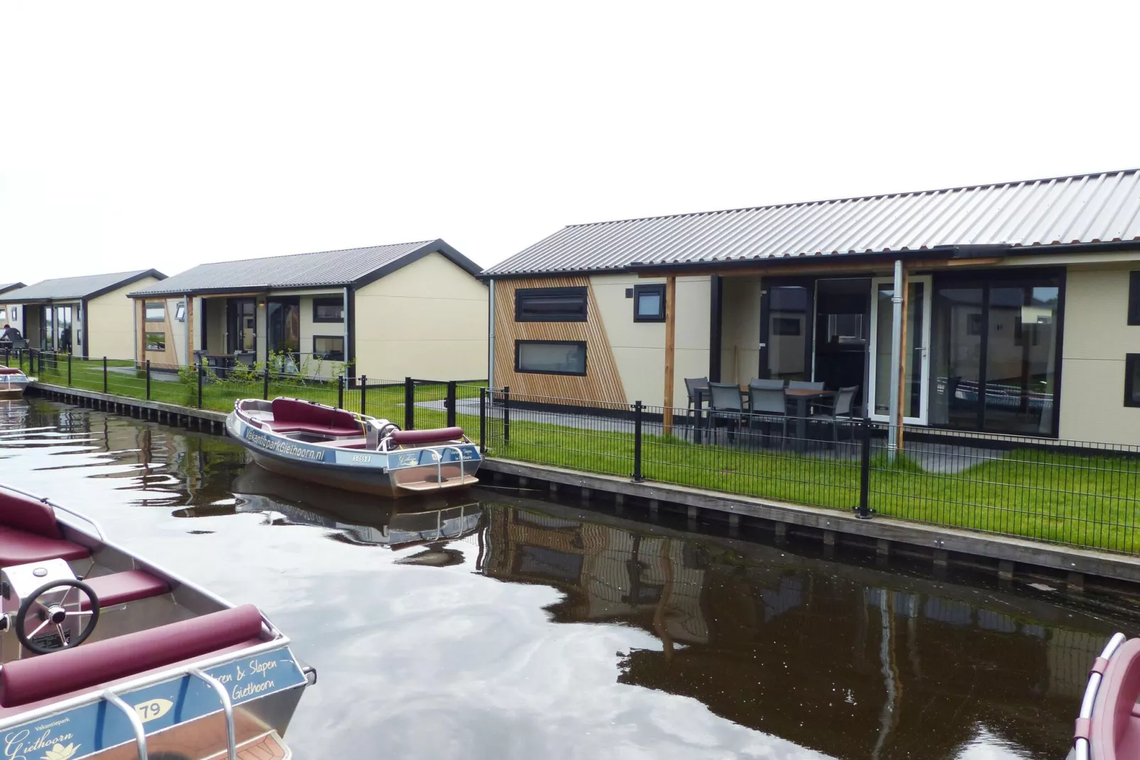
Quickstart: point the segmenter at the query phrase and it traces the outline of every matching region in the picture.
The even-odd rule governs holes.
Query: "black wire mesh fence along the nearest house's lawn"
[[[494,456],[1041,541],[1140,547],[1140,447],[791,414],[695,413],[490,389]]]

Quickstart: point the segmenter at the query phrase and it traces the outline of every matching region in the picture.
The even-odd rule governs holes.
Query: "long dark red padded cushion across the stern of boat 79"
[[[0,706],[47,700],[199,657],[256,638],[261,613],[253,605],[82,644],[0,668]]]

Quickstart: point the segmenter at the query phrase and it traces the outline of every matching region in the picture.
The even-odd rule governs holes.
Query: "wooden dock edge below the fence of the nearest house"
[[[648,504],[650,515],[663,506],[681,508],[690,522],[701,517],[727,522],[730,529],[739,527],[741,519],[774,524],[776,537],[789,527],[807,528],[817,533],[824,547],[834,545],[840,537],[845,543],[857,543],[879,555],[888,555],[891,547],[899,553],[906,548],[920,550],[931,557],[935,566],[951,560],[993,566],[1001,579],[1009,580],[1015,569],[1033,574],[1043,569],[1051,577],[1060,577],[1069,590],[1080,590],[1089,576],[1129,584],[1140,584],[1140,557],[1134,555],[1097,551],[995,533],[983,533],[944,525],[929,525],[876,515],[858,519],[854,512],[822,507],[805,507],[755,496],[665,483],[635,483],[611,475],[595,475],[544,464],[531,464],[505,459],[486,459],[482,470],[496,482],[512,478],[520,486],[547,484],[552,492],[565,493],[580,488],[585,498],[592,492],[612,494],[618,506],[635,499]],[[484,480],[487,478],[483,476]],[[707,512],[707,515],[702,515]],[[1133,589],[1133,591],[1140,589]]]

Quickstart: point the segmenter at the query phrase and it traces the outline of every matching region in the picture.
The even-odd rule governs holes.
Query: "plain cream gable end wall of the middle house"
[[[483,379],[487,290],[440,253],[360,288],[353,373],[377,380]]]

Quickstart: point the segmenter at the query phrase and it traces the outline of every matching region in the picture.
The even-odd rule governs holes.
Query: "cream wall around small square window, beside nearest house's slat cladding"
[[[593,275],[589,278],[598,315],[613,350],[627,401],[650,406],[665,403],[665,323],[634,322],[634,299],[626,289],[662,283],[663,277],[642,278],[630,274]],[[703,378],[709,372],[709,278],[677,277],[674,334],[673,404],[684,407],[689,396],[685,378]],[[591,316],[589,318],[594,318]],[[496,357],[496,362],[503,361]],[[589,357],[586,357],[587,366]]]

